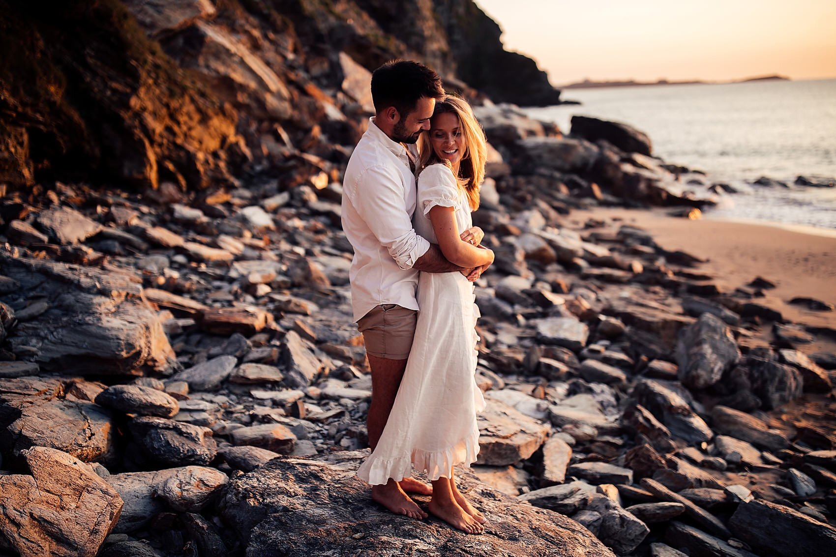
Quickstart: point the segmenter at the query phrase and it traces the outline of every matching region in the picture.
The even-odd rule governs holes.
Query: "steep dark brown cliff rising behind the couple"
[[[0,184],[202,189],[328,173],[364,129],[364,73],[395,57],[451,89],[559,102],[499,35],[471,0],[3,0]],[[365,85],[344,95],[357,74]]]

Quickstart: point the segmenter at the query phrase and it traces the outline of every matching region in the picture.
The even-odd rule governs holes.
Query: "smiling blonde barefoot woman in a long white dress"
[[[472,228],[471,211],[479,205],[487,144],[470,105],[449,95],[436,102],[419,151],[415,231],[451,263],[483,271],[493,252],[478,245],[483,234]],[[480,534],[485,518],[459,493],[453,474],[457,464],[477,459],[476,413],[485,406],[474,380],[479,310],[473,285],[461,273],[421,273],[417,297],[421,309],[404,378],[380,442],[358,475],[375,485],[410,477],[413,466],[424,470],[432,482],[430,512]]]

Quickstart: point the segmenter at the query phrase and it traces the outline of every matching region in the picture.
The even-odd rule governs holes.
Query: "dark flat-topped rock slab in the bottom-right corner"
[[[736,538],[770,555],[836,554],[836,528],[762,499],[737,505],[729,528]]]

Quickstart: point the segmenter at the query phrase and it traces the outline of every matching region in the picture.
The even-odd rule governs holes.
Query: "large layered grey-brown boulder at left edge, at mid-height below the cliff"
[[[47,308],[21,321],[8,343],[37,350],[33,360],[62,374],[141,375],[177,366],[155,310],[130,273],[0,253],[3,273],[21,289],[7,303],[40,298]],[[25,347],[25,348],[24,348]]]

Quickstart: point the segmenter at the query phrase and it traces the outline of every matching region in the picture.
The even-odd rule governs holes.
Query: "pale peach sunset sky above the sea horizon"
[[[554,85],[836,77],[836,0],[475,0]]]

